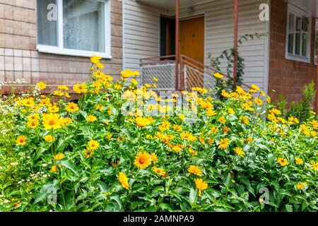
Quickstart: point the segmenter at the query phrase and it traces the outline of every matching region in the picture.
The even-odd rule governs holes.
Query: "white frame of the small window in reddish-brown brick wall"
[[[288,52],[288,36],[289,36],[289,14],[293,13],[295,18],[297,18],[298,16],[300,16],[301,18],[303,16],[307,17],[309,19],[309,24],[308,24],[308,32],[307,32],[307,56],[306,57],[302,57],[302,56],[298,56],[296,54],[290,54]],[[294,24],[294,26],[296,26],[296,23]],[[295,27],[294,27],[295,29]],[[295,32],[294,32],[295,34]],[[302,34],[302,32],[300,32],[300,34]],[[305,62],[305,63],[310,63],[310,51],[311,51],[311,35],[312,35],[312,17],[310,15],[310,13],[307,13],[305,11],[302,11],[300,8],[297,8],[291,4],[288,4],[288,13],[287,13],[287,26],[286,26],[286,40],[285,40],[285,58],[289,59],[289,60],[293,60],[293,61],[301,61],[301,62]],[[300,35],[301,40],[302,40],[302,35]],[[296,46],[296,38],[294,36],[294,40],[293,40],[293,52],[295,52],[295,46]],[[302,42],[300,42],[300,54],[302,53]]]

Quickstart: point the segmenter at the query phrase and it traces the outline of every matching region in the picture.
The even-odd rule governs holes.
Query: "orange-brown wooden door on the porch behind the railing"
[[[204,16],[180,21],[180,53],[204,64]],[[199,68],[203,66],[196,64]],[[187,87],[203,85],[203,76],[192,71],[187,77]]]

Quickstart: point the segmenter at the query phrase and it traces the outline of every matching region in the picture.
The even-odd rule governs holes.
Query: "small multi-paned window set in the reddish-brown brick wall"
[[[286,59],[310,63],[311,17],[288,5]]]

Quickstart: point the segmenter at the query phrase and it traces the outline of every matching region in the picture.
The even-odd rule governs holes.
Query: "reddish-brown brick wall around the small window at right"
[[[286,26],[288,4],[283,0],[271,1],[271,35],[269,61],[269,94],[273,100],[282,94],[288,102],[302,99],[304,85],[316,80],[314,64],[314,25],[312,18],[312,37],[310,64],[285,59]],[[273,93],[271,90],[275,90]]]

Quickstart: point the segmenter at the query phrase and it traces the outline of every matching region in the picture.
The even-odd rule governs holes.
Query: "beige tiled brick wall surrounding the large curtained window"
[[[85,81],[88,57],[39,53],[36,50],[36,0],[0,0],[0,81],[24,78],[29,83],[73,85]],[[111,0],[112,59],[105,73],[118,78],[122,69],[122,0]]]

